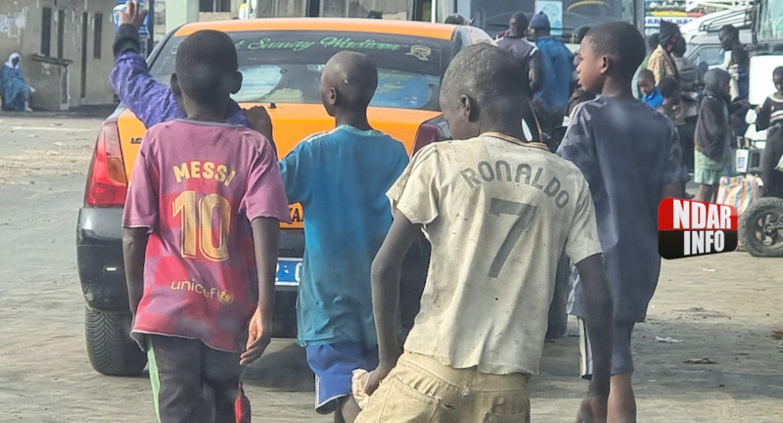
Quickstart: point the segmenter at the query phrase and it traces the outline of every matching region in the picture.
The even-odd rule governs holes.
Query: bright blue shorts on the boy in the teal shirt
[[[329,414],[337,409],[337,400],[352,394],[351,377],[356,369],[378,367],[378,347],[357,342],[338,342],[305,347],[307,364],[315,373],[315,411]]]

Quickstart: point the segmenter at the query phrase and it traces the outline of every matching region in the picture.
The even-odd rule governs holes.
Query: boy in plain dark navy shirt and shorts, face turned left
[[[614,344],[609,421],[636,421],[631,387],[631,332],[642,322],[658,284],[658,204],[682,196],[688,174],[674,124],[636,100],[634,72],[644,58],[644,38],[632,25],[593,28],[582,41],[577,71],[582,87],[601,94],[577,109],[558,150],[582,170],[595,201],[598,235],[614,299]],[[572,313],[587,315],[586,286],[577,279]],[[580,330],[582,345],[594,342]],[[594,373],[594,358],[582,348],[582,376]]]

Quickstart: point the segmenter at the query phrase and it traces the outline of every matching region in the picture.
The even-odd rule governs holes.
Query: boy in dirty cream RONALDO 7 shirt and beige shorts
[[[564,250],[584,277],[596,340],[579,421],[606,418],[611,298],[592,200],[579,169],[524,141],[525,91],[497,47],[466,47],[449,64],[440,104],[461,141],[421,149],[389,190],[394,223],[372,273],[380,364],[357,421],[529,422],[528,381]],[[400,355],[400,268],[422,229],[432,259]]]

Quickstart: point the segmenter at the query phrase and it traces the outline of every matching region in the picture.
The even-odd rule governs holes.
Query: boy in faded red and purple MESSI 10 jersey
[[[223,123],[242,82],[231,38],[194,33],[175,67],[187,119],[147,131],[123,214],[131,336],[161,422],[233,422],[242,366],[271,336],[288,202],[266,139]]]

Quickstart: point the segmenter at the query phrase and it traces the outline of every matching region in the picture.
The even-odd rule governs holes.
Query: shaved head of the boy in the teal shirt
[[[321,96],[329,114],[333,114],[335,107],[366,109],[376,88],[378,68],[367,55],[341,51],[326,62],[321,76]]]

